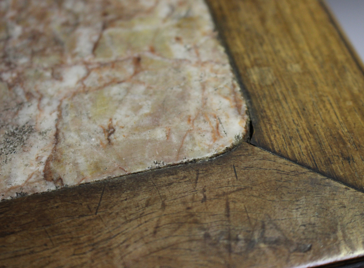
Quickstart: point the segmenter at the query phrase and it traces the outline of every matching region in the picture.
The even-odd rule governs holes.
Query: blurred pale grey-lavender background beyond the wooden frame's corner
[[[326,0],[364,62],[364,0]]]

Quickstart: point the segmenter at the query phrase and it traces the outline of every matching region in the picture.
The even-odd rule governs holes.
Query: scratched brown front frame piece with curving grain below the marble
[[[308,267],[364,254],[364,194],[246,143],[0,203],[0,267]]]

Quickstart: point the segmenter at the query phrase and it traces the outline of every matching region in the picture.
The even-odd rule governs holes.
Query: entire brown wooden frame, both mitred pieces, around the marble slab
[[[250,143],[2,202],[0,267],[313,267],[364,255],[360,61],[320,1],[207,3],[249,101]]]

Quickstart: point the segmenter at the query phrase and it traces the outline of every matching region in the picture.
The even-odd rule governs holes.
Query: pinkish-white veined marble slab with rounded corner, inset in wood
[[[0,197],[205,159],[246,105],[203,0],[0,1]]]

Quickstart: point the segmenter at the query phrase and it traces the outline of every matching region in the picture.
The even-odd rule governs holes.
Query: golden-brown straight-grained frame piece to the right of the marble
[[[322,2],[207,3],[250,99],[251,143],[363,191],[363,69]]]

